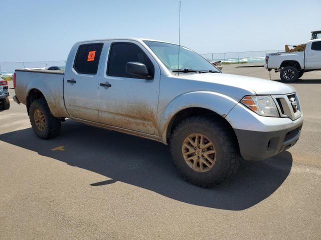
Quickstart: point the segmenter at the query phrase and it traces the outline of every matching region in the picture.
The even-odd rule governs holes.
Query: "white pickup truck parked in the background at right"
[[[321,70],[321,39],[309,40],[304,51],[267,53],[265,68],[280,71],[283,81],[295,81],[304,72]]]

